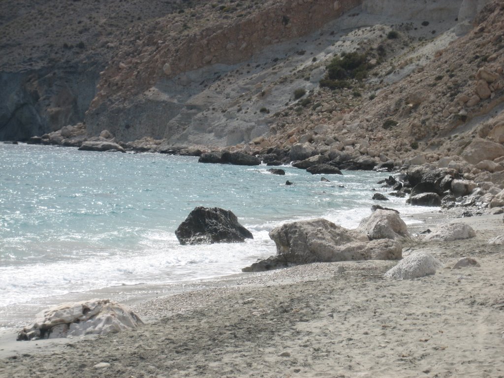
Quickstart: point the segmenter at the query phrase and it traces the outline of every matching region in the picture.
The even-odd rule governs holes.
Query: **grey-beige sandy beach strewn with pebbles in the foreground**
[[[419,214],[408,228],[450,216]],[[487,243],[504,234],[502,215],[458,221],[476,237],[403,250],[441,260],[433,276],[387,280],[396,262],[366,261],[227,277],[135,304],[138,330],[30,342],[4,333],[0,376],[504,376],[504,253]],[[466,256],[481,267],[451,269]]]

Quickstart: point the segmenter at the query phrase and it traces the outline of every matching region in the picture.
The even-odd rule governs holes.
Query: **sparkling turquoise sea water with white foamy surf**
[[[377,203],[371,189],[387,191],[376,182],[388,173],[344,171],[323,182],[291,166],[285,176],[269,168],[0,144],[0,327],[15,324],[15,309],[51,298],[239,273],[276,253],[274,227],[325,217],[355,228]],[[385,205],[403,214],[419,212],[390,199]],[[254,239],[180,245],[174,231],[197,206],[231,210]]]

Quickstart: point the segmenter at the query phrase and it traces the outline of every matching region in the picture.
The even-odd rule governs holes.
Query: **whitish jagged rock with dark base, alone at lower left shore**
[[[35,321],[18,334],[18,340],[106,335],[135,329],[142,324],[127,306],[109,299],[61,303],[39,312]]]

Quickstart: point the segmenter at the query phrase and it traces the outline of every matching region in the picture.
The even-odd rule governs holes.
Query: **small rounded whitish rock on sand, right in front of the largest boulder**
[[[401,260],[394,268],[385,273],[385,278],[410,280],[436,273],[443,264],[425,252],[415,252]]]

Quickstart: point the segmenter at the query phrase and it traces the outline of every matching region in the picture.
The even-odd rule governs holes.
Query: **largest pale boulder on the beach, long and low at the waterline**
[[[368,241],[367,236],[322,218],[284,224],[271,230],[270,237],[277,246],[277,255],[243,268],[243,272],[314,262],[396,260],[402,256],[398,241]]]

